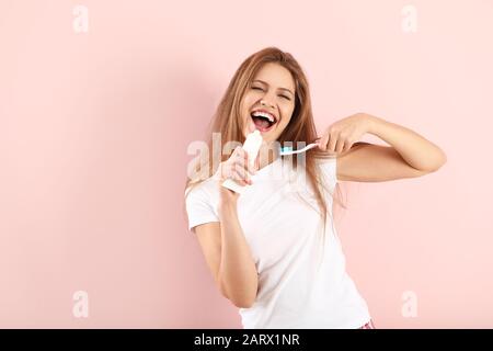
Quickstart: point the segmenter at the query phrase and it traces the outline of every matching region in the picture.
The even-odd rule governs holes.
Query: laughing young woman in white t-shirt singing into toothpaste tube
[[[243,327],[371,328],[332,220],[336,184],[424,176],[446,162],[445,154],[365,113],[318,136],[307,78],[290,54],[275,47],[243,61],[211,126],[225,148],[215,148],[210,137],[209,154],[191,168],[193,176],[188,171],[188,228],[218,288],[240,308]],[[263,144],[251,167],[246,152],[230,146],[255,129]],[[358,143],[366,133],[390,146]],[[279,156],[288,141],[318,147],[302,157]],[[228,178],[244,191],[222,186]]]

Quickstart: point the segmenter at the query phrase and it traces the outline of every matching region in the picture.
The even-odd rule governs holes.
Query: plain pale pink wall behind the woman
[[[88,33],[72,29],[79,3]],[[409,3],[416,33],[401,29]],[[241,61],[274,45],[305,68],[319,128],[364,111],[448,156],[423,178],[343,185],[339,234],[376,326],[492,328],[492,12],[1,0],[0,327],[241,327],[186,228],[186,148]],[[89,318],[72,315],[80,290]]]

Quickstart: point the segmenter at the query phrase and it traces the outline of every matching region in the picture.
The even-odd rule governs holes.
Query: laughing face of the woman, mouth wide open
[[[259,129],[264,141],[277,140],[291,120],[295,93],[289,70],[275,63],[265,64],[246,88],[241,102],[244,136]]]

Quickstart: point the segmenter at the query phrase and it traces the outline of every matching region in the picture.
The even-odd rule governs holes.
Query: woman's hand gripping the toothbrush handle
[[[323,133],[319,144],[321,150],[329,154],[342,154],[351,149],[354,143],[368,133],[370,117],[365,113],[356,113],[331,124]]]

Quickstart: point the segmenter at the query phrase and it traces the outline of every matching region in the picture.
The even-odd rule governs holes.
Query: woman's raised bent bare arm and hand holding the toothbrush
[[[366,133],[391,146],[355,143]],[[337,155],[337,179],[343,181],[382,182],[421,177],[447,161],[438,146],[417,133],[366,113],[333,123],[319,146]]]

